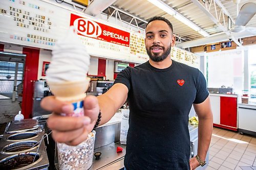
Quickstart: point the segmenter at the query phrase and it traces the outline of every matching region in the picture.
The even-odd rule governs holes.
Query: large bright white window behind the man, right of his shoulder
[[[206,53],[206,80],[209,88],[233,88],[233,92],[243,90],[244,53],[228,50]]]

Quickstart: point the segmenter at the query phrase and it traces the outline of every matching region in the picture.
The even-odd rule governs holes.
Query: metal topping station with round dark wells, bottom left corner
[[[0,140],[0,169],[47,169],[44,133],[35,119],[8,123]]]

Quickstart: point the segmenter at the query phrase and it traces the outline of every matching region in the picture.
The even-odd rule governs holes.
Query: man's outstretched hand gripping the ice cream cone
[[[41,107],[53,112],[47,120],[53,138],[68,145],[77,145],[86,140],[99,114],[98,99],[92,95],[84,99],[84,116],[82,117],[61,116],[60,113],[72,113],[74,107],[72,104],[56,100],[54,96],[44,98],[41,101]]]

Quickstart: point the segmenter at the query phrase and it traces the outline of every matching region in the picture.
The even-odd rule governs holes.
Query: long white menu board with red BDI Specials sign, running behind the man
[[[148,60],[145,36],[44,1],[1,0],[0,41],[52,50],[70,26],[92,56],[126,62]],[[172,47],[172,59],[199,68],[199,57]]]

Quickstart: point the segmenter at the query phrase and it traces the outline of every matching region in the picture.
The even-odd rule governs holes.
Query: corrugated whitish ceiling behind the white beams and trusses
[[[201,9],[198,8],[191,0],[155,0],[162,1],[170,8],[175,9],[178,13],[182,14],[184,17],[194,22],[202,30],[206,31],[210,35],[216,33],[221,33],[221,30],[214,21],[212,21]],[[206,3],[210,3],[211,0],[205,0]],[[236,20],[237,18],[237,5],[233,1],[219,0],[223,6],[227,9],[230,16]],[[202,1],[198,1],[202,5],[205,4]],[[240,8],[248,2],[256,3],[256,0],[241,0],[238,4]],[[186,26],[181,21],[177,20],[173,16],[169,15],[162,9],[148,2],[147,0],[117,0],[112,4],[112,6],[126,11],[134,16],[138,16],[144,20],[148,20],[153,16],[163,16],[169,19],[173,23],[174,34],[184,38],[185,40],[196,40],[204,38],[201,34],[194,31],[190,27]],[[208,5],[209,6],[209,5]],[[221,8],[216,4],[217,14],[219,16]],[[214,4],[211,4],[209,11],[213,16],[216,16]],[[221,17],[220,20],[223,23]],[[227,23],[227,17],[225,17],[225,22]],[[247,27],[256,27],[256,15],[247,23]]]

